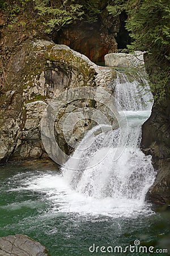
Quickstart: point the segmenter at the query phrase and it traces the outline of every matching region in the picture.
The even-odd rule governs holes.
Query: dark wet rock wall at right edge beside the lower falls
[[[142,128],[142,150],[152,155],[152,164],[157,171],[154,184],[147,194],[147,199],[155,203],[170,202],[170,144],[169,121],[161,113],[162,106],[152,109],[150,118]]]

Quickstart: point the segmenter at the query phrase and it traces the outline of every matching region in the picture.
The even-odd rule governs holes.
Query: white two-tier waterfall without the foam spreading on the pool
[[[143,79],[142,82],[147,88],[147,81]],[[145,156],[139,145],[142,124],[151,113],[152,95],[142,88],[140,81],[129,81],[128,76],[120,72],[113,84],[114,95],[124,110],[129,126],[124,152],[116,161],[113,160],[120,139],[120,128],[96,135],[91,146],[84,147],[91,139],[91,132],[97,129],[94,127],[75,150],[74,160],[70,158],[66,167],[62,167],[63,178],[75,192],[86,197],[97,200],[138,200],[144,204],[146,192],[154,181],[155,171],[151,156]],[[107,156],[103,159],[106,151]],[[100,162],[100,159],[103,160]],[[99,163],[92,166],[96,162]],[[70,170],[70,166],[75,170]]]

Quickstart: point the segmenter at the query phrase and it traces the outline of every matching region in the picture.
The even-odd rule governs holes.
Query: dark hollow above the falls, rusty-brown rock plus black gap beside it
[[[126,19],[126,13],[122,12],[119,18],[111,19],[111,27],[104,26],[102,19],[94,23],[79,22],[74,26],[62,28],[53,40],[56,44],[65,44],[74,51],[86,55],[97,65],[104,65],[104,56],[107,53],[127,48],[127,44],[130,43],[129,32],[125,28]]]

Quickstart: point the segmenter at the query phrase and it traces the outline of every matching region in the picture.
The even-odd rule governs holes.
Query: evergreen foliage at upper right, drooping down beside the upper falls
[[[114,5],[113,5],[114,2]],[[146,51],[150,55],[151,90],[156,102],[169,91],[170,73],[170,5],[169,0],[116,0],[107,7],[112,15],[126,11],[126,29],[133,42],[130,51]]]

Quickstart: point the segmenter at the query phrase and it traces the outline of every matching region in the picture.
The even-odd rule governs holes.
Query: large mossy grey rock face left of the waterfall
[[[40,125],[49,102],[78,86],[100,86],[112,91],[107,85],[115,76],[111,68],[99,67],[67,46],[44,40],[23,43],[8,63],[0,93],[0,162],[46,157]],[[83,104],[91,106],[92,102]],[[88,130],[92,123],[84,121],[81,125]],[[75,130],[80,139],[81,127]],[[56,136],[59,146],[70,152],[62,133]]]

